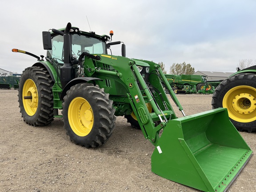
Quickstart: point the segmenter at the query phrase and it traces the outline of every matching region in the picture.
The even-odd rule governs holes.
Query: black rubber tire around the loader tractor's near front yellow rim
[[[72,97],[72,94],[77,91],[86,92],[92,98],[93,102],[95,102],[97,114],[100,117],[99,126],[98,128],[94,129],[96,130],[96,134],[88,134],[86,140],[81,138],[77,139],[78,136],[74,136],[75,133],[72,132],[68,120],[66,119],[64,119],[64,128],[66,129],[70,140],[72,140],[75,144],[79,144],[86,148],[99,147],[110,138],[115,128],[116,116],[114,115],[115,108],[112,108],[113,101],[109,100],[109,94],[106,94],[103,88],[86,83],[76,84],[72,86],[67,91],[67,95],[64,96],[64,102],[62,104],[62,114],[64,118],[68,118],[68,106],[65,106],[66,101],[69,99],[68,97]]]

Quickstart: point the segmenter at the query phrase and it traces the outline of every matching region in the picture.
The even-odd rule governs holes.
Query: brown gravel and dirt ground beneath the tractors
[[[61,119],[37,128],[24,123],[17,94],[0,89],[0,191],[198,192],[151,172],[154,146],[124,117],[106,144],[86,149],[69,140]],[[177,97],[186,115],[211,109],[211,95]],[[256,152],[256,133],[240,134]],[[253,155],[228,192],[256,191],[255,163]]]

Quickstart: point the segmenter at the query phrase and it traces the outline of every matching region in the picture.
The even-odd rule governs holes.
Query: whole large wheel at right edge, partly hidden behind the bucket
[[[256,130],[256,74],[240,73],[223,80],[212,95],[212,108],[227,108],[239,131]]]

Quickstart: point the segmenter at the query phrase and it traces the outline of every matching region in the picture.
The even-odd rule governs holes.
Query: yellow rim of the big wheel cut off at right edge
[[[256,120],[256,88],[240,85],[230,89],[222,105],[228,109],[228,116],[241,123]]]

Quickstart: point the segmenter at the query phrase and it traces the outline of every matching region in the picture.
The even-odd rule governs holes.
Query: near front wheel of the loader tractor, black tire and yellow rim
[[[64,96],[63,120],[75,144],[95,148],[104,144],[115,128],[115,108],[109,94],[93,84],[76,84]]]

